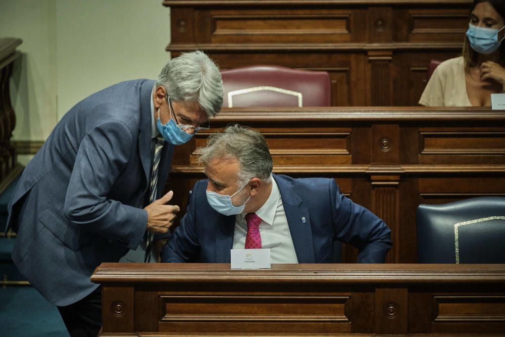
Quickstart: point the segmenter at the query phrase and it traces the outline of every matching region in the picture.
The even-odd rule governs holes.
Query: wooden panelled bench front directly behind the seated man
[[[505,196],[505,111],[405,108],[224,108],[176,147],[167,189],[184,214],[188,190],[205,178],[192,164],[210,132],[237,122],[265,134],[274,172],[332,177],[392,230],[388,262],[417,262],[416,208]],[[344,262],[356,251],[344,250]]]

